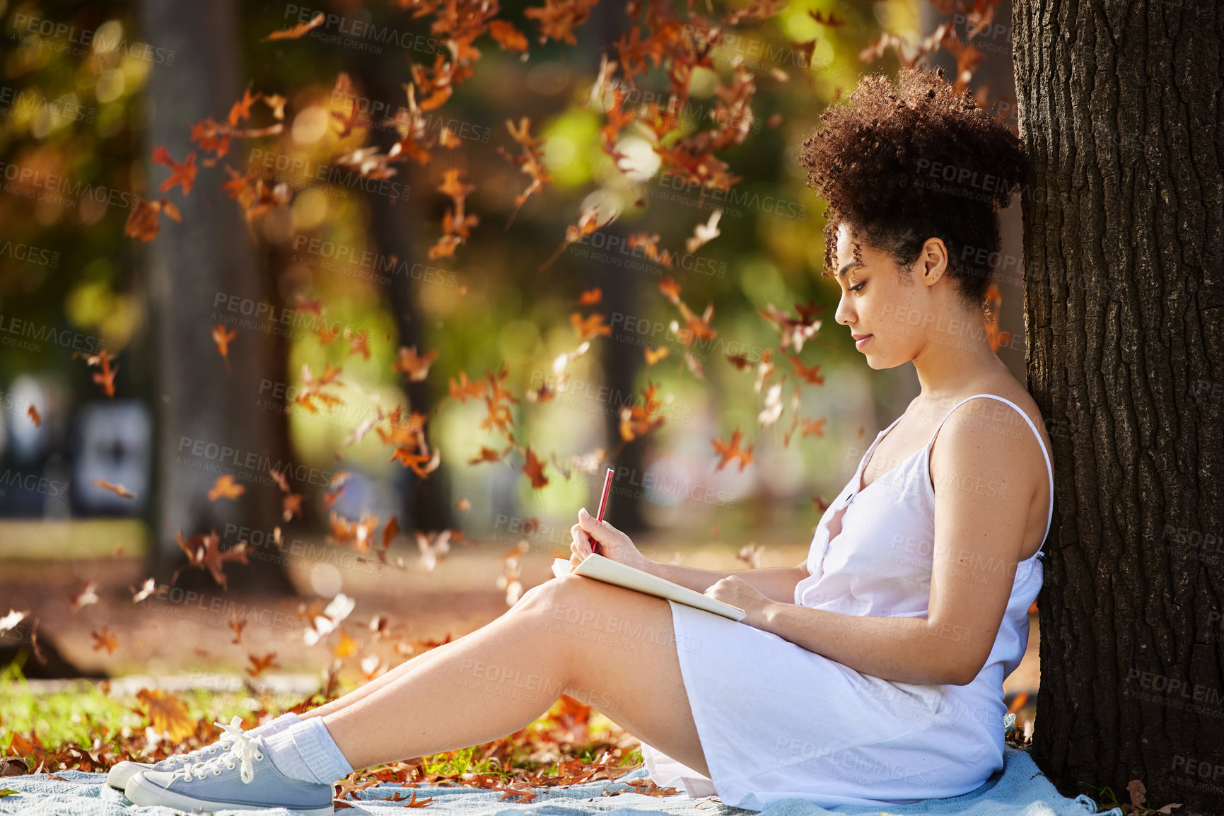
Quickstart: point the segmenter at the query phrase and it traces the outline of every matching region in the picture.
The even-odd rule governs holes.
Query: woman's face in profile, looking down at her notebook
[[[862,243],[860,263],[854,262],[848,228],[837,230],[837,285],[841,302],[836,321],[859,340],[854,344],[871,368],[894,368],[914,358],[922,349],[925,323],[922,314],[934,314],[931,286],[918,286],[901,278],[892,258]],[[942,287],[940,287],[942,289]],[[919,319],[914,319],[919,316]]]

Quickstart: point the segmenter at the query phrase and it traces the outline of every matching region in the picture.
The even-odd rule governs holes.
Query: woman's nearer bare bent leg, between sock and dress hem
[[[447,646],[323,714],[349,765],[482,745],[567,694],[709,776],[667,601],[570,575],[532,587],[507,614]]]

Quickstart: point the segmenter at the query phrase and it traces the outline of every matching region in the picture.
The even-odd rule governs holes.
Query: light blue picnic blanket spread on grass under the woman
[[[381,784],[366,788],[354,795],[354,816],[376,814],[389,816],[403,814],[404,803],[379,801],[389,799],[395,792],[410,795],[416,792],[417,800],[433,798],[426,805],[431,812],[443,812],[457,816],[517,816],[518,814],[536,814],[539,816],[584,816],[586,814],[607,814],[607,816],[657,816],[660,812],[688,816],[689,814],[714,816],[736,816],[760,812],[764,816],[823,816],[825,814],[889,814],[908,816],[909,814],[957,814],[958,816],[1093,816],[1097,805],[1084,795],[1067,799],[1054,789],[1054,785],[1037,768],[1027,751],[1010,745],[1004,747],[1004,770],[988,779],[977,790],[950,799],[925,799],[909,805],[887,805],[881,811],[873,807],[854,807],[842,805],[825,809],[803,799],[785,799],[763,811],[730,807],[716,796],[690,799],[683,792],[668,796],[650,796],[634,793],[627,779],[647,778],[644,767],[636,768],[616,782],[600,781],[585,784],[557,788],[532,788],[537,794],[526,804],[517,800],[502,800],[502,793],[480,788],[457,788],[421,785],[404,788],[399,784]],[[49,774],[0,778],[0,792],[16,790],[16,794],[0,796],[0,814],[22,814],[22,816],[173,816],[179,812],[171,807],[140,807],[131,804],[119,790],[106,787],[106,774],[84,773],[81,771],[60,771],[55,776],[65,781],[49,779]],[[621,793],[624,792],[624,793]],[[283,807],[269,807],[262,811],[219,810],[218,814],[251,816],[291,816]],[[345,811],[337,811],[345,812]],[[1122,816],[1118,807],[1100,816]]]

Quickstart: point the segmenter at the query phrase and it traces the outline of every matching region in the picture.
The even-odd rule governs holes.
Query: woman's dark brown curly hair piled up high
[[[884,76],[864,77],[849,104],[830,106],[820,121],[799,160],[808,186],[829,202],[824,275],[837,262],[842,223],[856,237],[856,261],[858,240],[905,267],[927,239],[939,237],[957,292],[984,308],[987,261],[999,251],[996,209],[1024,172],[1020,139],[967,89],[945,82],[942,70],[903,67],[896,87]]]

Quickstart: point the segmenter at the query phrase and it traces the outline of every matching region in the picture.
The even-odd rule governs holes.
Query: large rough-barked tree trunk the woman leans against
[[[1056,494],[1033,759],[1067,794],[1140,779],[1152,806],[1224,812],[1224,10],[1016,0],[1013,20]]]

